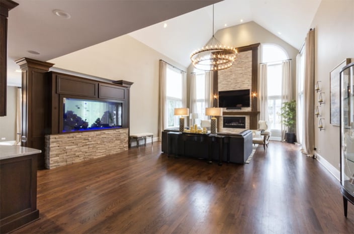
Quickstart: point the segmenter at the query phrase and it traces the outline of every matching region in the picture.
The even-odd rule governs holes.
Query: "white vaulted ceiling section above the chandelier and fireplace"
[[[224,0],[214,5],[214,32],[254,21],[299,49],[320,3],[321,0]],[[212,11],[212,6],[208,6],[129,35],[187,67],[190,53],[212,37]]]

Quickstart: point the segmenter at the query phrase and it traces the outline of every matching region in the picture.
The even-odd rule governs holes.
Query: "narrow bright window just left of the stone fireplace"
[[[198,119],[195,120],[195,124],[197,125],[201,124],[201,120],[206,120],[205,79],[205,73],[196,74],[196,99],[193,112],[198,113]]]

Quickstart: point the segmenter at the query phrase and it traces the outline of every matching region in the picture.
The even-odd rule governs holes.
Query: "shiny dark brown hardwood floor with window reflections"
[[[221,167],[160,149],[156,142],[38,171],[41,219],[16,232],[354,232],[339,182],[295,145],[272,141],[250,164]]]

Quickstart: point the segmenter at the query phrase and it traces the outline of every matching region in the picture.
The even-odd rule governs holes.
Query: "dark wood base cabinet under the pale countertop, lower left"
[[[0,233],[7,233],[39,218],[37,209],[38,155],[24,155],[0,160]]]

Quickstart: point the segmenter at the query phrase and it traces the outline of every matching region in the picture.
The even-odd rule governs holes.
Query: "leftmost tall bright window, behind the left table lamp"
[[[174,115],[174,108],[183,107],[182,72],[168,65],[166,76],[167,127],[178,127],[180,116]]]

